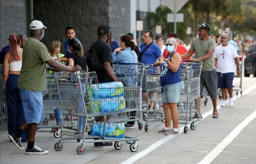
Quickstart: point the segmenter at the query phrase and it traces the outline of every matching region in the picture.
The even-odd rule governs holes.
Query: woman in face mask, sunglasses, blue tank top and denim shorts
[[[179,113],[177,110],[177,103],[180,94],[184,89],[183,80],[180,77],[181,70],[181,57],[175,52],[177,43],[175,38],[167,39],[166,50],[168,55],[163,59],[163,62],[156,62],[153,65],[161,65],[160,81],[163,92],[163,109],[165,115],[165,126],[162,130],[158,131],[160,134],[166,135],[180,135]],[[173,121],[173,128],[171,129],[171,118]]]

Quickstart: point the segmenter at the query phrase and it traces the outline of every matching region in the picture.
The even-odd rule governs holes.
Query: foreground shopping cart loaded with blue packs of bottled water
[[[60,141],[54,145],[55,150],[62,150],[64,140],[76,139],[79,142],[82,139],[83,143],[77,147],[78,154],[85,153],[86,143],[100,142],[115,142],[114,147],[119,150],[122,147],[122,142],[125,141],[130,144],[130,150],[132,152],[137,151],[138,138],[127,136],[124,138],[109,138],[105,137],[105,131],[107,114],[126,113],[141,109],[141,87],[100,88],[96,72],[66,73],[67,76],[57,81],[56,77],[60,76],[60,74],[61,72],[55,73],[55,80],[58,93],[62,95],[60,96],[62,113],[69,116],[84,117],[84,122],[82,133],[62,130]],[[95,87],[96,90],[94,90]],[[100,96],[97,100],[98,105],[94,106],[96,104],[94,93],[98,96],[108,95],[108,93],[113,93],[113,95],[124,93],[124,99],[122,97],[114,97],[116,98],[116,101],[114,101],[114,98],[102,98]],[[105,118],[103,136],[85,135],[87,122],[93,121],[96,116],[103,116]]]

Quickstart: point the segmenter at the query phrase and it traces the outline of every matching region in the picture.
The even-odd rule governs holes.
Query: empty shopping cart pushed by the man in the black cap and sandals
[[[196,129],[197,118],[191,118],[192,112],[196,111],[197,106],[193,105],[194,100],[200,96],[200,75],[202,62],[182,62],[180,76],[184,81],[184,90],[181,92],[178,104],[184,104],[184,110],[179,112],[179,124],[185,124],[184,133],[187,133],[188,124],[192,130]]]

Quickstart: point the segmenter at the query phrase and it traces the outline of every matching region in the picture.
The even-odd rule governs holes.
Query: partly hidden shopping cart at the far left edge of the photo
[[[0,64],[0,128],[2,125],[2,119],[7,118],[5,90],[3,80],[3,64]]]

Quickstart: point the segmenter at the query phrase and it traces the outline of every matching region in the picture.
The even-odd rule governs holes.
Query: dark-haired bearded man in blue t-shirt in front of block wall
[[[60,61],[66,61],[67,62],[68,61],[67,57],[70,54],[69,50],[68,50],[68,45],[69,45],[70,40],[75,39],[79,42],[79,44],[81,44],[81,42],[75,37],[76,32],[75,32],[75,28],[73,26],[67,26],[66,27],[66,36],[67,36],[68,40],[66,40],[65,44],[64,44],[65,56],[63,56],[61,58],[54,59],[58,62],[60,62]]]

